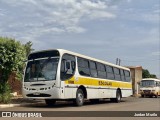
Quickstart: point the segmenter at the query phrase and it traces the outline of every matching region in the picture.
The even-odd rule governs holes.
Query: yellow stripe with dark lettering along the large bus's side
[[[104,80],[99,78],[86,78],[86,77],[72,77],[65,81],[66,84],[75,85],[91,85],[91,86],[102,86],[102,87],[116,87],[116,88],[132,88],[131,83],[114,81],[114,80]]]

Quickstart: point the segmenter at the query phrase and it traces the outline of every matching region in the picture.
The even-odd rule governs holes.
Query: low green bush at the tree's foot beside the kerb
[[[11,89],[7,82],[0,84],[0,103],[10,103],[12,97],[10,93]]]

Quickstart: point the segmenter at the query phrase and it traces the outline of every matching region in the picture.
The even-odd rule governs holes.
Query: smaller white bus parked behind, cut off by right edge
[[[141,97],[149,96],[156,98],[160,95],[160,80],[155,78],[145,78],[140,82]]]

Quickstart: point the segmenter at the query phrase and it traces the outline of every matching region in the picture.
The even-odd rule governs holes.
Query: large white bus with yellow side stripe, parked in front
[[[44,99],[47,105],[72,100],[82,106],[87,99],[98,102],[103,98],[118,103],[132,95],[126,67],[63,49],[33,52],[26,63],[23,97]]]

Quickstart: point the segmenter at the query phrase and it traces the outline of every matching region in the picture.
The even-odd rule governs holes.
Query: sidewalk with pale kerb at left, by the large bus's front
[[[38,103],[36,100],[24,99],[22,96],[13,97],[9,104],[1,104],[0,108],[18,107]]]

